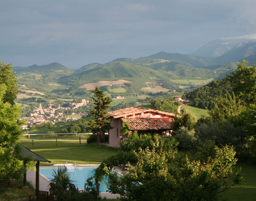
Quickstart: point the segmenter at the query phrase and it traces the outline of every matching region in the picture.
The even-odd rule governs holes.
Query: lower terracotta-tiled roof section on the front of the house
[[[121,118],[122,122],[129,122],[129,130],[165,130],[171,129],[170,122],[174,118],[165,117],[165,118]]]

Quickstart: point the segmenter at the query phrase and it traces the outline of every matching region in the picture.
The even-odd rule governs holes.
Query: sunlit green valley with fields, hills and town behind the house
[[[112,109],[149,104],[152,98],[181,96],[222,79],[236,70],[242,59],[256,61],[254,47],[254,42],[237,45],[218,57],[159,52],[137,59],[87,64],[79,69],[59,63],[14,67],[19,87],[16,103],[22,107],[24,117],[31,116],[40,104],[43,108],[51,104],[63,114],[62,119],[69,119],[72,114],[90,112],[90,91],[98,86],[111,96]],[[88,99],[89,103],[69,108],[70,103],[81,103],[81,99]],[[44,116],[45,121],[51,118],[49,114]]]

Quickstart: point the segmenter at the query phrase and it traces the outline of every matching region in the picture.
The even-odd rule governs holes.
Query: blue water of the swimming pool
[[[40,168],[40,173],[44,174],[45,177],[48,179],[52,179],[52,173],[54,168]],[[95,167],[77,167],[76,170],[69,170],[70,173],[70,179],[73,181],[73,184],[78,189],[84,189],[84,183],[86,183],[86,180],[95,173]],[[57,170],[57,168],[56,168]],[[108,188],[106,187],[105,182],[101,182],[99,186],[100,192],[106,192],[108,191]]]

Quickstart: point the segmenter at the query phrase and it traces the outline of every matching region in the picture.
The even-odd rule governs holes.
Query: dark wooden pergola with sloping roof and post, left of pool
[[[33,161],[36,161],[36,173],[35,173],[35,195],[39,197],[39,164],[40,162],[48,162],[51,163],[51,161],[48,161],[45,158],[40,157],[36,153],[32,152],[32,150],[28,149],[25,146],[21,146],[22,153],[24,156],[31,158]],[[24,164],[26,167],[26,164]],[[27,171],[24,173],[24,180],[23,180],[23,186],[27,185]]]

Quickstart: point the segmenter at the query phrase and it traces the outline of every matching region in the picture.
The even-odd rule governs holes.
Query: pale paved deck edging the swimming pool
[[[59,165],[53,165],[53,166],[40,166],[40,168],[44,167],[58,167]],[[63,166],[63,165],[61,165]],[[77,167],[98,167],[99,165],[77,165]],[[32,184],[32,186],[35,188],[35,172],[32,170],[27,170],[27,181]],[[49,183],[50,180],[46,178],[43,174],[39,173],[39,190],[41,191],[48,191],[49,192]],[[120,197],[119,194],[112,194],[109,192],[100,192],[100,197],[101,198],[106,198],[106,199],[117,199]]]

